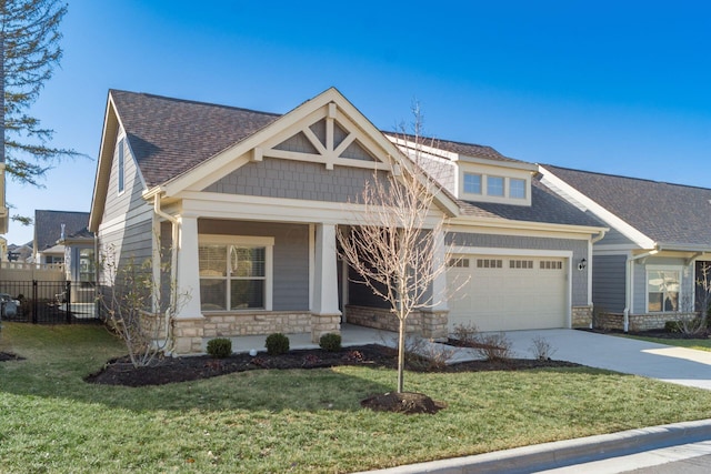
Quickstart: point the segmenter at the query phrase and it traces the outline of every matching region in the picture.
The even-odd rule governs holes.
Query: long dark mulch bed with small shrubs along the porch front
[[[173,382],[187,382],[234,372],[263,369],[323,369],[339,365],[362,365],[371,367],[397,366],[397,351],[379,344],[344,347],[338,352],[320,349],[290,351],[281,355],[259,353],[232,354],[226,359],[207,355],[166,357],[150,367],[133,367],[127,357],[112,360],[97,373],[84,380],[89,383],[107,385],[144,386]],[[408,370],[424,372],[470,372],[470,371],[515,371],[538,367],[579,366],[565,361],[538,361],[529,359],[507,359],[499,361],[473,361],[447,366],[429,366],[422,361],[408,364]]]

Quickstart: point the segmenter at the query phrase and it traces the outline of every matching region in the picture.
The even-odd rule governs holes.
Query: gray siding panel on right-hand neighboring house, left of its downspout
[[[625,262],[625,255],[592,258],[592,303],[595,310],[624,311]]]

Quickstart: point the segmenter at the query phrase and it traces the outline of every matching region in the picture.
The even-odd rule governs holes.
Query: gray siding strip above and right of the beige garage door
[[[450,232],[445,236],[445,243],[472,248],[571,251],[573,268],[571,304],[573,306],[588,304],[588,272],[577,270],[578,262],[588,259],[588,241],[585,240]]]

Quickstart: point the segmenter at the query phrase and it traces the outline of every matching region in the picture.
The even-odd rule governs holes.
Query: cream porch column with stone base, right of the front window
[[[313,307],[311,339],[340,332],[341,312],[338,309],[338,269],[336,263],[336,225],[316,225]]]

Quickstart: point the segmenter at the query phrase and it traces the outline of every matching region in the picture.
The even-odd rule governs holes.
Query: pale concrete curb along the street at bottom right
[[[531,473],[705,440],[711,440],[711,420],[628,430],[368,473]]]

